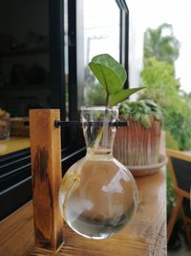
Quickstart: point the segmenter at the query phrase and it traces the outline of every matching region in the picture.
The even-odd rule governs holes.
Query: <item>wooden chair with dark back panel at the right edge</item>
[[[168,168],[173,180],[176,202],[167,226],[169,241],[175,221],[180,214],[188,244],[191,245],[191,154],[183,151],[166,150]]]

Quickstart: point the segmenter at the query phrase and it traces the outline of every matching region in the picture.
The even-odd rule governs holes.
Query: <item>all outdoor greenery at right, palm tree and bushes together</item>
[[[165,35],[166,29],[168,34]],[[191,95],[180,91],[180,81],[175,78],[175,60],[180,44],[169,24],[156,30],[148,29],[144,36],[144,68],[140,74],[139,99],[151,99],[162,109],[166,130],[166,148],[191,150]],[[175,203],[172,179],[167,170],[167,215]]]

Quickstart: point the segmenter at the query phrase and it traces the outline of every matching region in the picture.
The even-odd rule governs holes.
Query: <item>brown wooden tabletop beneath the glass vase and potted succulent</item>
[[[136,178],[139,204],[134,219],[114,237],[104,241],[85,239],[64,224],[65,244],[59,253],[65,256],[144,256],[167,255],[165,172]],[[0,222],[0,255],[27,256],[34,247],[32,201]],[[32,255],[42,255],[36,249]]]

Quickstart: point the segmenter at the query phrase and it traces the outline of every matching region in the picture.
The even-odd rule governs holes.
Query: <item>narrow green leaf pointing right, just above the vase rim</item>
[[[113,94],[110,97],[109,105],[117,105],[118,103],[126,100],[129,98],[130,95],[134,94],[135,92],[143,89],[144,87],[138,87],[138,88],[130,88],[130,89],[123,89],[116,94]]]

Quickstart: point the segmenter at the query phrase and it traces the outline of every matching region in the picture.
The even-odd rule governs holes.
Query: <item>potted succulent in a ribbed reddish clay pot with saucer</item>
[[[159,170],[164,156],[159,154],[162,112],[151,100],[125,101],[119,105],[119,118],[128,122],[118,128],[115,157],[134,175],[153,174]]]

